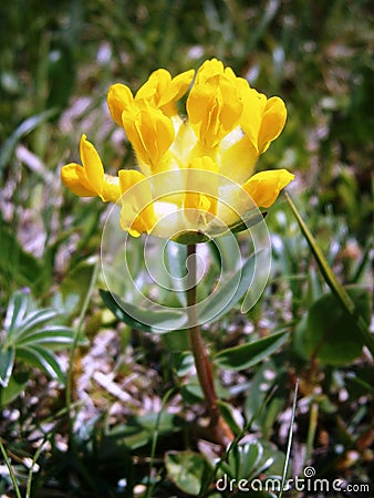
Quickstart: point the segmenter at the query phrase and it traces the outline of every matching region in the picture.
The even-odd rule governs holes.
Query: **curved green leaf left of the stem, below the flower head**
[[[177,310],[142,310],[141,308],[125,303],[117,295],[113,295],[103,289],[100,289],[100,295],[114,315],[132,329],[152,333],[165,333],[173,329],[181,329],[187,321],[187,315]]]

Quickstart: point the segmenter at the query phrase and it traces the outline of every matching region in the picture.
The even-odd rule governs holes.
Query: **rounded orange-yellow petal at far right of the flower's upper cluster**
[[[264,106],[263,117],[259,131],[259,152],[262,154],[276,139],[284,127],[287,110],[284,102],[279,97],[271,97]]]

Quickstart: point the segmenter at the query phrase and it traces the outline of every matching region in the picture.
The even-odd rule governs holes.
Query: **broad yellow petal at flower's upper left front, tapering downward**
[[[172,120],[147,101],[134,101],[123,112],[122,122],[137,156],[157,172],[174,141]]]

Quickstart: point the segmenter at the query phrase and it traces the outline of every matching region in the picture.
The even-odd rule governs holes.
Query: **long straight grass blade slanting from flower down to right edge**
[[[367,346],[368,351],[371,352],[372,356],[374,356],[374,339],[367,328],[367,324],[363,317],[359,313],[355,303],[352,301],[350,295],[347,294],[344,287],[336,279],[336,276],[330,268],[326,258],[324,257],[320,246],[318,245],[316,240],[312,236],[310,229],[308,228],[307,224],[300,216],[300,212],[298,211],[295,205],[293,204],[291,197],[289,194],[285,193],[285,198],[292,209],[292,212],[294,217],[297,218],[297,221],[301,228],[301,231],[303,236],[305,237],[309,247],[311,248],[311,251],[315,258],[315,261],[320,268],[320,271],[325,279],[328,286],[330,287],[331,291],[336,295],[337,300],[342,304],[342,307],[347,311],[347,313],[354,318],[357,324],[357,329],[362,335],[362,339]]]

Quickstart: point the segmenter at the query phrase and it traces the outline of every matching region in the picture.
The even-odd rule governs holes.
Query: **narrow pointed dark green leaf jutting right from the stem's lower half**
[[[282,331],[248,344],[229,347],[216,354],[214,361],[222,369],[249,369],[282,345],[287,340],[287,335],[288,332]]]

